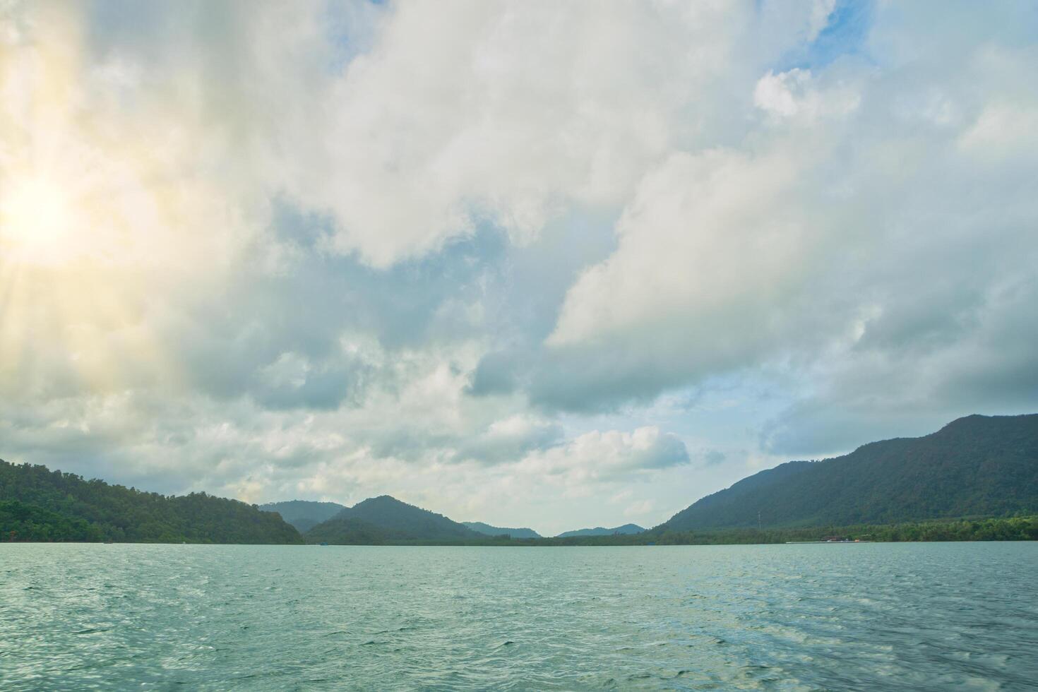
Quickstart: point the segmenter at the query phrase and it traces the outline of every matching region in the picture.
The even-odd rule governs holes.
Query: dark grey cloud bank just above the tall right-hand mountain
[[[819,391],[768,422],[762,447],[776,454],[839,453],[872,440],[925,435],[974,413],[1033,412],[1038,363],[1028,344],[1038,338],[1038,317],[1029,308],[1035,301],[1035,285],[1021,279],[976,303],[968,316],[949,320],[954,338],[935,340],[932,327],[923,326],[891,342],[881,320],[876,329],[883,338],[868,338],[868,326]],[[927,313],[940,310],[931,306]]]

